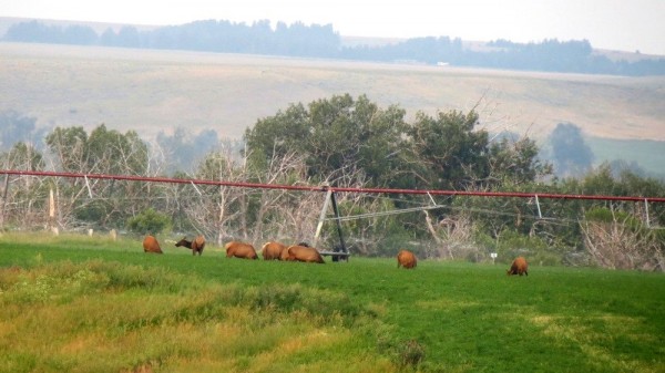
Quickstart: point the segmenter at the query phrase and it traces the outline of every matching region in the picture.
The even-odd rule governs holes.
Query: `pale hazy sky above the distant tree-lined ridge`
[[[0,0],[0,17],[137,24],[229,20],[331,23],[345,37],[540,42],[665,55],[665,0]]]

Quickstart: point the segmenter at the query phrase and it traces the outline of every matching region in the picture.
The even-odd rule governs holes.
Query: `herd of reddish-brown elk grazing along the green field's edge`
[[[193,240],[187,240],[183,237],[180,241],[175,242],[176,247],[185,247],[192,250],[193,256],[201,256],[205,247],[205,238],[197,236]],[[242,259],[258,259],[258,253],[254,249],[254,246],[241,241],[231,241],[224,245],[226,250],[226,258],[242,258]],[[163,253],[160,242],[154,236],[145,236],[143,239],[143,251],[153,253]],[[301,261],[311,263],[325,263],[321,253],[313,247],[309,247],[306,242],[298,245],[286,246],[279,242],[266,242],[260,253],[264,260],[283,260],[283,261]],[[415,269],[418,263],[416,255],[409,250],[400,250],[397,255],[397,268]],[[518,257],[513,260],[512,265],[507,271],[508,276],[511,274],[525,274],[528,272],[528,263],[523,257]]]

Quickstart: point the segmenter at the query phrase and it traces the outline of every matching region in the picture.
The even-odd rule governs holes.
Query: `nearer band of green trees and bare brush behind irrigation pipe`
[[[474,110],[417,113],[412,121],[406,114],[365,95],[291,104],[247,128],[244,146],[212,146],[188,172],[168,168],[174,137],[162,135],[171,143],[161,146],[104,125],[90,133],[80,126],[55,127],[42,149],[18,142],[0,154],[0,162],[4,169],[282,185],[665,196],[662,180],[616,173],[608,165],[580,177],[555,177],[533,139],[490,136]],[[524,255],[545,265],[664,266],[665,236],[652,229],[665,225],[663,204],[337,197],[341,215],[351,217],[342,225],[355,255],[391,256],[406,247],[421,257],[472,261],[499,252],[500,258]],[[233,238],[260,245],[311,239],[323,198],[282,189],[7,176],[0,222],[3,229],[196,232],[217,244]],[[326,225],[321,246],[337,242],[334,225]]]

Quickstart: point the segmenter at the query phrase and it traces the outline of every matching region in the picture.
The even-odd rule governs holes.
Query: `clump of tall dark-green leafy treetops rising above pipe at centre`
[[[489,143],[475,131],[478,113],[420,112],[411,125],[397,106],[386,110],[366,96],[349,94],[291,104],[245,132],[255,169],[290,153],[305,156],[307,175],[334,180],[357,175],[370,186],[458,189],[495,180],[533,182],[550,168],[538,159],[529,138]]]

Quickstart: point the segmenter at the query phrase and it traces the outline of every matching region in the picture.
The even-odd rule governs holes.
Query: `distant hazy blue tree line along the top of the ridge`
[[[382,62],[450,64],[508,70],[616,75],[663,75],[665,59],[613,61],[594,53],[587,40],[514,43],[495,40],[484,50],[471,50],[461,39],[412,38],[385,45],[345,46],[332,24],[286,24],[268,20],[252,24],[203,20],[181,25],[139,30],[124,25],[98,34],[91,27],[45,24],[37,20],[12,24],[4,41],[105,45],[143,49],[194,50],[284,56],[326,58]],[[638,52],[636,52],[638,53]]]

